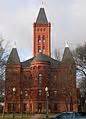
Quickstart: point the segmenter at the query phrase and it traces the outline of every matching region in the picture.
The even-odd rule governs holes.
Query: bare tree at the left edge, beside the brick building
[[[5,85],[5,67],[8,58],[9,42],[0,37],[0,102],[3,101],[4,85]]]

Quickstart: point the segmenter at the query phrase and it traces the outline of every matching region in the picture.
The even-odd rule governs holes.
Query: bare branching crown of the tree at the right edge
[[[77,73],[82,77],[80,81],[80,89],[86,94],[86,43],[83,46],[78,46],[73,51],[74,58],[76,61]]]

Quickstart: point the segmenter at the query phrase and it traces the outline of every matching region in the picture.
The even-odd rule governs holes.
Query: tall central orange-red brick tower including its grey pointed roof
[[[44,8],[40,8],[33,29],[33,55],[37,56],[41,53],[51,56],[51,24],[47,20]]]

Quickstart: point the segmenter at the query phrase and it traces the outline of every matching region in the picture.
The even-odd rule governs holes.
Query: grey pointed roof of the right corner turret
[[[62,62],[66,62],[66,63],[74,63],[75,62],[69,47],[65,47]]]

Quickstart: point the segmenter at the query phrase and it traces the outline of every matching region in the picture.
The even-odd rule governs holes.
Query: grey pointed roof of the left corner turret
[[[16,48],[12,49],[12,51],[9,55],[7,64],[20,64],[20,59],[19,59],[18,52],[17,52]]]

